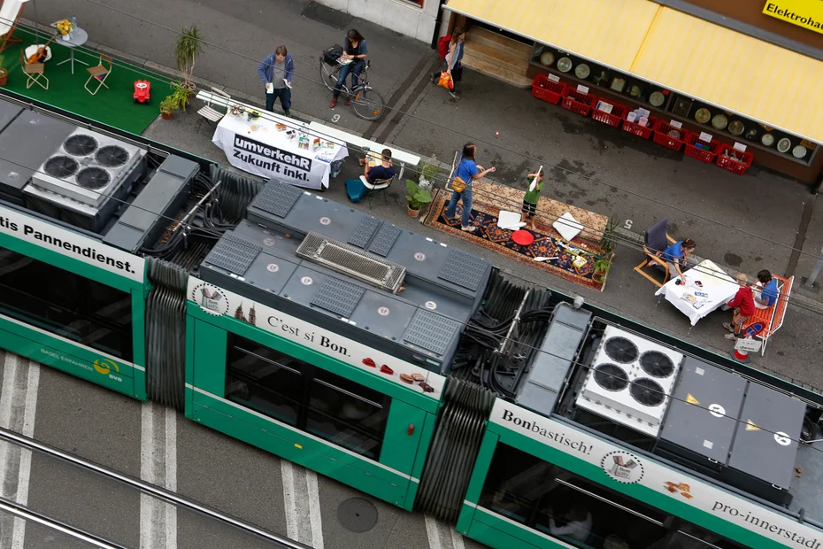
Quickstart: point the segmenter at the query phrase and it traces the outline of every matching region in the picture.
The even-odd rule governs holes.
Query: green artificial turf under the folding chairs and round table
[[[89,29],[89,32],[94,33],[94,30]],[[82,59],[90,66],[96,66],[100,54],[94,50],[76,48],[74,74],[72,74],[71,62],[58,66],[60,61],[70,56],[69,49],[60,45],[61,38],[56,38],[50,43],[52,57],[46,62],[43,71],[49,79],[49,89],[42,89],[36,83],[26,89],[27,75],[20,67],[20,50],[35,43],[35,35],[20,27],[15,30],[14,35],[21,38],[23,42],[12,45],[0,53],[0,56],[4,58],[3,67],[9,72],[5,88],[22,96],[140,135],[158,117],[158,105],[170,93],[169,84],[165,78],[115,59],[112,73],[105,81],[109,88],[102,87],[95,96],[92,96],[83,88],[83,84],[88,80],[87,67],[77,63],[76,59]],[[41,33],[37,43],[46,43],[47,40],[48,38],[44,38]],[[135,104],[136,80],[150,81],[149,104]],[[92,90],[96,87],[96,85],[92,86],[94,83],[94,80],[88,82],[88,87]]]

